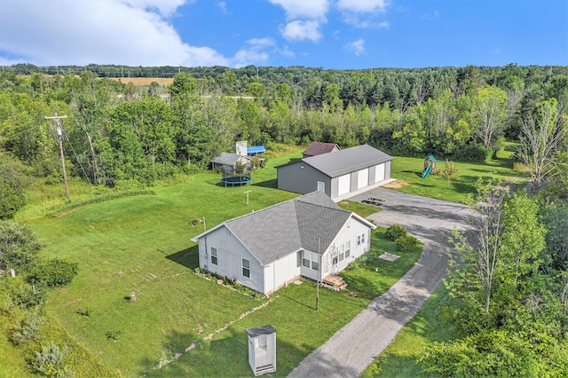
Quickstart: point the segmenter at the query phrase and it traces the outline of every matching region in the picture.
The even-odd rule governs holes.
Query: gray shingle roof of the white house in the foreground
[[[225,222],[256,256],[270,264],[300,249],[323,254],[351,217],[325,193],[305,194]]]

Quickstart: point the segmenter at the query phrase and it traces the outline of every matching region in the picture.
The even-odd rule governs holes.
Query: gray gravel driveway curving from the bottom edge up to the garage
[[[375,188],[350,198],[375,197],[383,211],[367,219],[377,225],[402,224],[424,245],[422,256],[389,291],[376,297],[349,324],[304,358],[288,377],[358,377],[390,344],[400,328],[446,277],[446,247],[454,226],[467,230],[469,207],[412,194]]]

